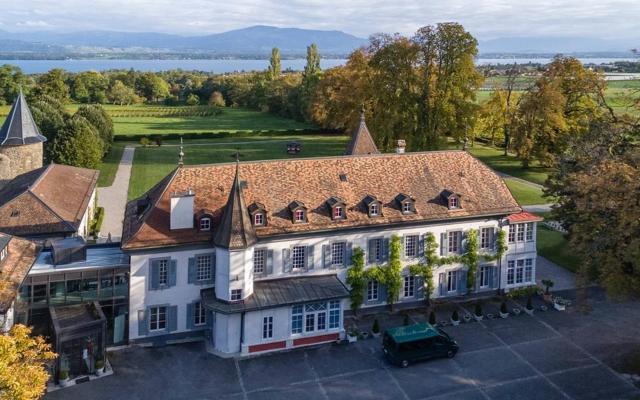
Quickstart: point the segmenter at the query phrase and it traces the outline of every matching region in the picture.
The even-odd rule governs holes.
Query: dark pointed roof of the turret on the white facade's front
[[[251,224],[249,210],[244,204],[240,187],[240,167],[236,164],[236,176],[231,186],[227,205],[213,237],[213,244],[229,250],[246,249],[256,242],[256,232]]]

